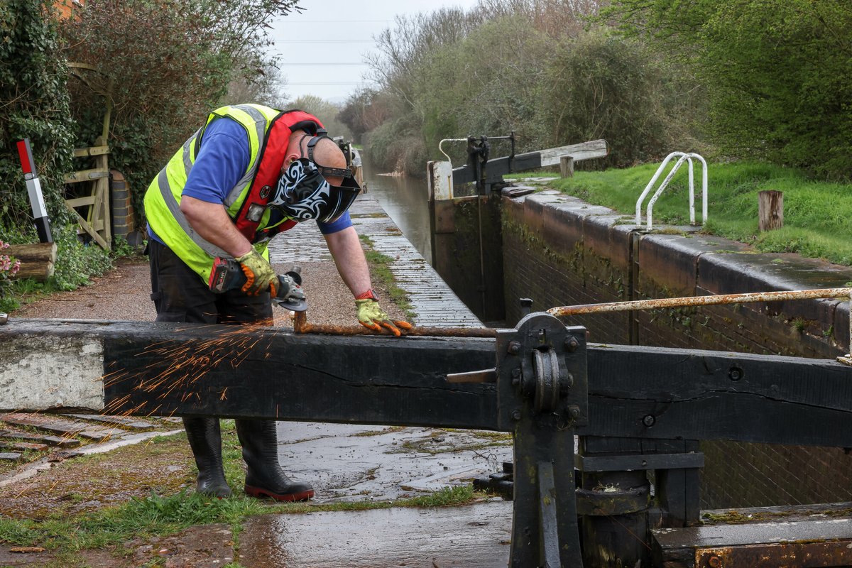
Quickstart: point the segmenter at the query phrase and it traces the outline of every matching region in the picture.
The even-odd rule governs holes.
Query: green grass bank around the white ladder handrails
[[[658,184],[671,170],[670,164]],[[604,205],[634,215],[636,199],[659,164],[644,164],[602,172],[575,172],[573,178],[554,179],[550,187],[590,204]],[[852,184],[808,179],[797,169],[754,162],[710,164],[708,169],[708,217],[703,232],[752,244],[761,252],[792,252],[852,265]],[[552,175],[552,174],[548,174]],[[529,177],[530,174],[512,177]],[[695,209],[701,221],[701,172],[695,170]],[[770,232],[757,229],[757,192],[784,192],[784,227]],[[650,195],[645,199],[648,204]],[[642,219],[645,208],[642,207]],[[686,225],[689,222],[688,169],[682,167],[653,206],[655,223]]]

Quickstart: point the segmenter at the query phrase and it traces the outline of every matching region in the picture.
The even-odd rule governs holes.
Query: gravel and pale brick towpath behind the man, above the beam
[[[435,270],[402,236],[377,200],[362,195],[350,209],[358,234],[366,247],[389,256],[394,278],[409,295],[412,312],[420,317],[414,324],[435,327],[481,327],[481,322],[458,296],[446,287]],[[308,323],[357,325],[352,294],[340,275],[315,223],[299,223],[269,243],[272,265],[285,273],[294,265],[302,268],[302,288],[308,299]],[[393,319],[406,318],[405,311],[389,301],[387,287],[372,278],[373,289],[383,309]],[[91,285],[72,292],[51,295],[9,314],[15,318],[77,318],[153,321],[151,281],[147,257],[122,259],[116,267]],[[292,327],[290,312],[274,307],[275,325]],[[422,320],[422,321],[420,321]]]

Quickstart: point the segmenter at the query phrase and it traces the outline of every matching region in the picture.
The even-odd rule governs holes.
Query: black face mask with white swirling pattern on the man
[[[314,162],[300,158],[281,175],[269,204],[296,221],[335,221],[349,209],[361,191],[353,178],[342,186],[332,186]]]

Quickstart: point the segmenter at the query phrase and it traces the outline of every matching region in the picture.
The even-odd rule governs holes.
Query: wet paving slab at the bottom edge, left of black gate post
[[[240,533],[239,561],[256,568],[504,568],[511,502],[264,515]]]

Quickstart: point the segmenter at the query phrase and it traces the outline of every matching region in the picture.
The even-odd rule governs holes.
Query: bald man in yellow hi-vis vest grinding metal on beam
[[[400,336],[399,328],[411,324],[391,321],[379,306],[349,219],[359,191],[343,152],[307,112],[239,105],[210,113],[145,194],[157,321],[271,324],[270,294],[278,278],[269,265],[268,239],[314,220],[355,297],[360,323]],[[241,289],[210,291],[216,257],[239,262],[246,277]],[[219,420],[184,417],[183,424],[199,468],[197,490],[231,495]],[[281,470],[275,422],[238,419],[236,427],[247,494],[280,501],[314,496],[311,485]]]

